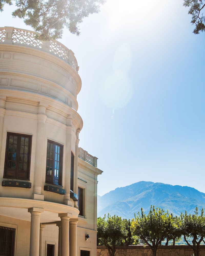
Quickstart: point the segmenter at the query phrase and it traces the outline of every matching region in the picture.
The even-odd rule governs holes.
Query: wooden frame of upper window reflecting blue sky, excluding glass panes
[[[47,140],[47,145],[48,143],[50,144],[53,144],[54,147],[55,145],[59,146],[60,147],[60,156],[59,156],[59,177],[58,177],[58,184],[54,183],[54,169],[55,169],[55,166],[54,166],[54,163],[55,163],[55,150],[53,151],[53,164],[52,164],[52,175],[47,175],[46,174],[46,183],[48,184],[52,184],[52,185],[55,185],[55,186],[60,186],[62,187],[62,174],[63,174],[63,145],[58,143],[58,142],[55,142],[55,141],[52,141],[52,140]],[[46,162],[47,162],[47,150],[46,150]],[[47,167],[47,164],[46,164],[46,167]],[[52,176],[51,177],[51,181],[48,180],[48,176]]]

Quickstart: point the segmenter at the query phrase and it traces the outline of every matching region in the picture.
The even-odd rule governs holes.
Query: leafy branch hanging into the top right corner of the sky
[[[204,0],[184,0],[183,5],[189,7],[189,14],[191,14],[191,23],[195,26],[193,33],[199,34],[200,31],[205,31],[205,16],[203,10],[205,9]]]

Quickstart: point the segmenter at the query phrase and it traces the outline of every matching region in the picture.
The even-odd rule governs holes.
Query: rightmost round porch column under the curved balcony
[[[77,223],[78,219],[69,222],[70,256],[77,255]]]

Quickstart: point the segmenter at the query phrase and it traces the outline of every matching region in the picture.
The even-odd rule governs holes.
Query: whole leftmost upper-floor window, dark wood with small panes
[[[29,180],[31,135],[7,133],[4,178]]]

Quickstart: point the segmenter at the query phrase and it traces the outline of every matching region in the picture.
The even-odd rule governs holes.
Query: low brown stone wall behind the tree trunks
[[[157,256],[191,256],[193,250],[186,245],[159,246]],[[97,246],[97,256],[109,256],[105,246]],[[151,249],[146,246],[117,246],[115,256],[152,256]],[[205,246],[200,249],[200,256],[205,256]]]

